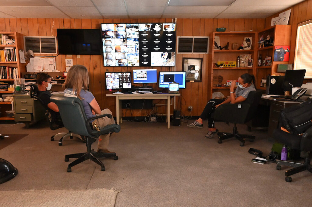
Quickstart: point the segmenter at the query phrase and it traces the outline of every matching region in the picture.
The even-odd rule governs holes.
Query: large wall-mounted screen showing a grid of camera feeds
[[[175,66],[175,23],[101,24],[104,66]]]

